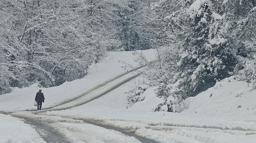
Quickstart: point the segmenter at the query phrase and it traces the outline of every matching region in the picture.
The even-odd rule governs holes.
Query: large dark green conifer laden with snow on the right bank
[[[196,96],[216,81],[229,77],[237,64],[226,22],[210,1],[195,1],[189,8],[188,28],[183,35],[184,54],[179,62],[184,98]]]

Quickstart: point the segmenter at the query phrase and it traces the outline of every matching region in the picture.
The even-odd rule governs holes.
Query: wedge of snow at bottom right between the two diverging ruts
[[[198,130],[173,128],[167,131],[138,129],[136,131],[141,136],[148,136],[161,143],[254,143],[256,135],[240,134],[240,132],[223,132],[221,130]]]

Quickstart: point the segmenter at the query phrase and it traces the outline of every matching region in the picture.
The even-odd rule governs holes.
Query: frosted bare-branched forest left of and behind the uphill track
[[[82,78],[104,52],[152,48],[135,0],[0,0],[0,94]]]

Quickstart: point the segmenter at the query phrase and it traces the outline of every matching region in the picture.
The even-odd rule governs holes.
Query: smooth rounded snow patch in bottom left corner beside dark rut
[[[0,143],[45,143],[28,124],[10,115],[0,114]]]

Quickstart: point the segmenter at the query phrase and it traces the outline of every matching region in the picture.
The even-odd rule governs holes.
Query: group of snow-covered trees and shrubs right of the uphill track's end
[[[149,19],[159,28],[153,47],[156,53],[159,47],[176,51],[159,58],[164,50],[153,62],[138,60],[148,65],[146,76],[158,84],[156,93],[166,95],[168,84],[177,81],[176,94],[196,96],[234,74],[246,75],[244,79],[254,83],[255,9],[254,0],[153,1],[150,10],[155,17]],[[167,64],[170,59],[172,64]],[[167,84],[156,82],[164,76]]]

